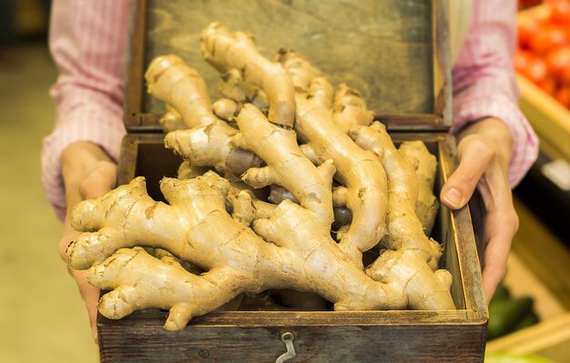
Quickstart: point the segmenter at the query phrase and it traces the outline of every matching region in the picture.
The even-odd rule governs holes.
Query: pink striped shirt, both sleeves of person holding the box
[[[471,29],[453,69],[451,132],[484,116],[503,120],[514,135],[509,168],[509,182],[514,186],[538,152],[537,138],[516,106],[518,89],[511,65],[516,2],[473,3]],[[127,0],[54,1],[50,49],[60,75],[51,89],[56,127],[44,139],[42,181],[47,199],[63,220],[62,150],[76,141],[90,141],[117,160],[125,135],[122,104]]]

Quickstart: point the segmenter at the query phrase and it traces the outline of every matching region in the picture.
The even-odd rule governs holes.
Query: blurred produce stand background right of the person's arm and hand
[[[486,351],[570,362],[570,0],[518,6],[519,106],[540,154],[514,188],[520,228],[489,306]]]

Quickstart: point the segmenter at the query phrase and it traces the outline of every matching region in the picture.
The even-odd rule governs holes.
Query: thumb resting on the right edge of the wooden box
[[[445,182],[440,194],[443,205],[451,209],[465,206],[473,196],[479,179],[491,163],[493,152],[483,142],[473,140],[463,150],[460,146],[459,158],[459,166]]]

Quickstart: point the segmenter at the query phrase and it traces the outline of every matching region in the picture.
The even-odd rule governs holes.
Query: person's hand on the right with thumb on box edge
[[[503,279],[511,242],[518,229],[507,171],[513,149],[508,126],[496,118],[484,118],[465,127],[457,136],[459,166],[442,188],[443,205],[465,206],[477,188],[483,215],[473,217],[483,272],[484,297],[489,304]],[[476,211],[475,211],[476,212]]]

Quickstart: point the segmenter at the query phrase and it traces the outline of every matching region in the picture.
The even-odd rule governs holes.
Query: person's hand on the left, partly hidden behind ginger
[[[66,187],[67,215],[64,235],[59,241],[59,255],[67,261],[66,248],[80,234],[70,224],[73,207],[82,200],[100,197],[115,187],[117,166],[99,146],[88,142],[76,142],[67,146],[61,156],[61,165]],[[91,331],[97,343],[96,319],[99,290],[87,282],[87,271],[79,271],[70,267],[68,270],[76,280],[79,293],[87,305]]]

